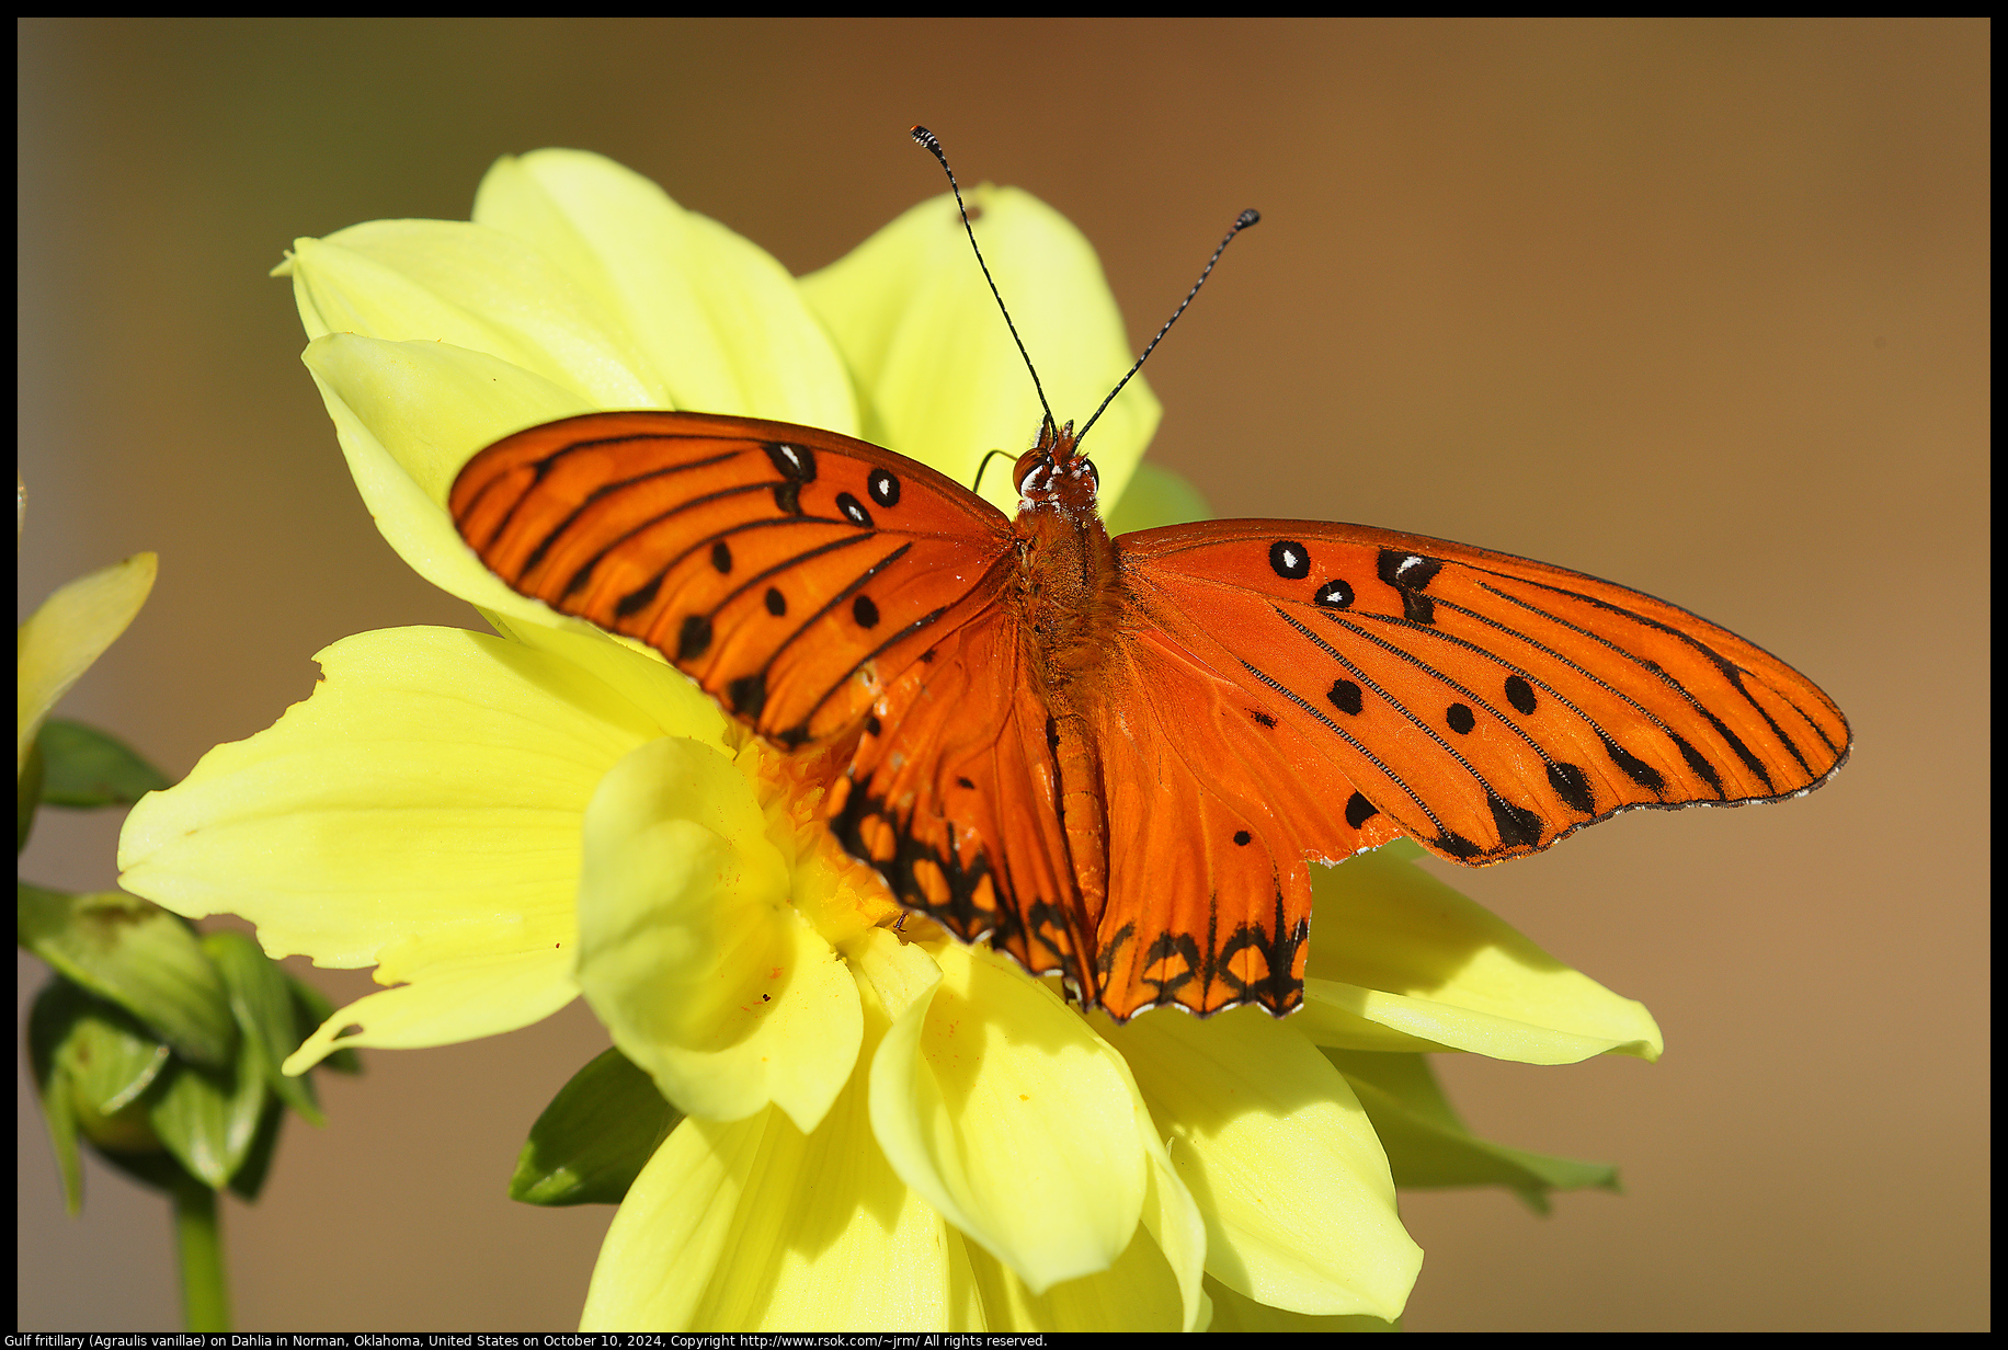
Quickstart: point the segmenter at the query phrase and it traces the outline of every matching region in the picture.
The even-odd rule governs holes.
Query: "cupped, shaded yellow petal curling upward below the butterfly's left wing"
[[[578,982],[614,1045],[687,1115],[773,1103],[813,1131],[857,1061],[857,986],[789,904],[741,767],[643,745],[600,781],[584,840]]]

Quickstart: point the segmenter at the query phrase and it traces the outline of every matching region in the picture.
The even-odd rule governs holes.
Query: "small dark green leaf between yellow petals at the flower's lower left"
[[[620,1051],[606,1051],[536,1117],[508,1183],[510,1199],[616,1205],[681,1119],[647,1073]]]

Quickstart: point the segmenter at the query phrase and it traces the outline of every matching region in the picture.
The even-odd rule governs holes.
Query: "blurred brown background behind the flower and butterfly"
[[[1412,1193],[1412,1330],[1988,1324],[1984,22],[24,22],[20,605],[161,581],[64,711],[171,775],[363,629],[478,619],[404,571],[297,356],[295,235],[466,219],[496,155],[602,151],[819,267],[964,181],[1096,243],[1153,456],[1219,514],[1357,520],[1687,605],[1811,673],[1817,796],[1637,814],[1468,894],[1643,998],[1667,1059],[1446,1057],[1472,1125],[1622,1163],[1536,1219]],[[1078,410],[1062,410],[1062,416]],[[112,880],[44,814],[24,874]],[[20,992],[40,982],[22,962]],[[321,972],[337,996],[361,974]],[[608,1209],[504,1197],[604,1039],[574,1004],[371,1053],[227,1213],[239,1322],[560,1330]],[[169,1330],[167,1207],[62,1215],[20,1097],[24,1330]],[[888,1272],[896,1278],[896,1272]]]

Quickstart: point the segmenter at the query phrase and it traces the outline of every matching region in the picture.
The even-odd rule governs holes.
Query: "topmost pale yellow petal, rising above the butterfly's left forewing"
[[[504,157],[474,219],[532,245],[631,333],[667,406],[857,432],[843,362],[787,269],[639,173],[584,151]]]

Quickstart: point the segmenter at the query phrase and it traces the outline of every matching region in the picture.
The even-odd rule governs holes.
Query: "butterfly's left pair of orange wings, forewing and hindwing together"
[[[518,432],[450,508],[510,587],[649,643],[769,739],[855,733],[825,800],[839,842],[906,906],[1078,986],[1002,512],[847,436],[685,412]]]

